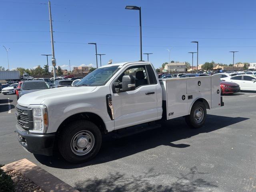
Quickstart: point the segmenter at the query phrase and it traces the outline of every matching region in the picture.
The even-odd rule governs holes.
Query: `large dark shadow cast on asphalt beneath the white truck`
[[[208,114],[204,126],[198,129],[189,128],[185,123],[184,118],[176,118],[169,120],[168,122],[164,122],[161,128],[147,130],[121,139],[112,138],[112,133],[106,134],[103,137],[102,146],[98,155],[89,162],[82,164],[70,164],[59,154],[55,156],[41,156],[34,154],[34,156],[41,164],[46,166],[62,169],[80,168],[93,164],[110,162],[151,148],[156,148],[161,145],[186,148],[190,145],[173,144],[172,142],[190,138],[200,133],[212,132],[248,119],[249,118],[234,118]]]

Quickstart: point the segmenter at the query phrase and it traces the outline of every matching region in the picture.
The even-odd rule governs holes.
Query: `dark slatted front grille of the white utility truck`
[[[17,123],[24,129],[33,129],[32,109],[16,105],[16,119]]]

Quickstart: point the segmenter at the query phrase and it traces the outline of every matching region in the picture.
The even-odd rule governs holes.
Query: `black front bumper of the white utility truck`
[[[30,153],[52,156],[55,134],[33,134],[16,124],[17,139]]]

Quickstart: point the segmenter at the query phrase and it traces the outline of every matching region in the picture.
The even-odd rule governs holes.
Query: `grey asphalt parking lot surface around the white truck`
[[[16,95],[0,94],[0,164],[27,158],[80,191],[256,191],[256,93],[223,101],[200,129],[177,118],[121,139],[108,135],[96,158],[73,165],[24,151],[13,132]]]

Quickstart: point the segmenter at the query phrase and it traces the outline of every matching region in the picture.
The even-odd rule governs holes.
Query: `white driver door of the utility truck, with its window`
[[[149,65],[152,69],[152,67]],[[149,70],[150,73],[152,70]],[[136,88],[126,92],[116,93],[114,82],[121,82],[124,75],[135,78]],[[157,120],[157,80],[148,75],[146,65],[133,64],[127,66],[123,72],[112,82],[112,106],[114,110],[115,130]]]

